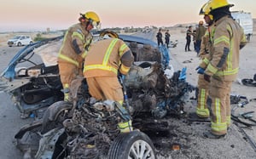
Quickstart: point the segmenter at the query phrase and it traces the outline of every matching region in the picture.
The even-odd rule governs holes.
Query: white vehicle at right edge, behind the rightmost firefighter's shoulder
[[[244,33],[247,36],[247,41],[249,42],[253,36],[253,18],[251,13],[243,11],[232,11],[232,17],[240,24],[243,28]]]

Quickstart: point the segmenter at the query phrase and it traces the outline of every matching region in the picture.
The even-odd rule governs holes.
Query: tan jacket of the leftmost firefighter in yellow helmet
[[[80,23],[68,28],[61,49],[58,62],[68,62],[82,68],[87,48],[92,41],[92,35]]]

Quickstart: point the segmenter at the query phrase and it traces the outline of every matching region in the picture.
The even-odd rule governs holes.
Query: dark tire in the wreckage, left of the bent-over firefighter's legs
[[[57,101],[44,111],[41,133],[47,133],[53,128],[62,127],[62,122],[69,118],[73,105],[67,101]]]

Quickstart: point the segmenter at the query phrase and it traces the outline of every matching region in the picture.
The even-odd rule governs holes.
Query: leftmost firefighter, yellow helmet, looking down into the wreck
[[[92,41],[90,30],[99,26],[99,16],[94,12],[80,14],[79,23],[68,28],[58,54],[58,65],[64,100],[68,100],[70,82],[83,76],[83,62]]]

